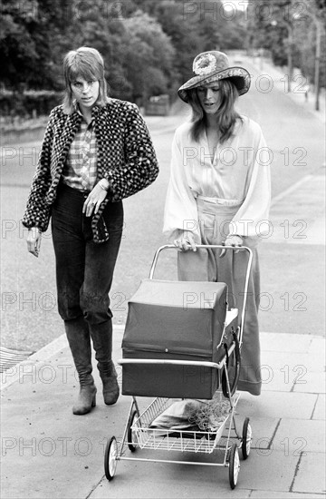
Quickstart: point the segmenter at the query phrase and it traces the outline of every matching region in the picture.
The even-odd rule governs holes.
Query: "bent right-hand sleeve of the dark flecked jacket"
[[[125,132],[125,161],[107,171],[111,201],[120,201],[148,187],[158,176],[158,160],[149,130],[135,104],[129,105]]]

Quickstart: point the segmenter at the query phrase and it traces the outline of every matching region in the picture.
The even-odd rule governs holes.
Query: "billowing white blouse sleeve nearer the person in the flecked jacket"
[[[177,132],[172,142],[170,179],[164,210],[163,233],[168,240],[175,240],[177,230],[191,230],[195,241],[200,243],[197,204],[187,183],[182,155],[182,143]]]

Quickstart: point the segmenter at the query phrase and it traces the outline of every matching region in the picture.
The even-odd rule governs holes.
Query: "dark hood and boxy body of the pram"
[[[144,279],[129,300],[123,358],[219,362],[236,328],[235,319],[225,329],[226,308],[225,283]],[[212,367],[122,365],[123,395],[212,398],[218,385]]]

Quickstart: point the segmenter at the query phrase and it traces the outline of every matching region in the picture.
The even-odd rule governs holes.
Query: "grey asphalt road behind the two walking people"
[[[244,65],[253,73],[253,85],[240,98],[239,109],[261,124],[271,151],[273,220],[277,220],[274,232],[278,234],[276,239],[265,240],[260,249],[261,330],[323,334],[324,246],[318,233],[316,240],[316,231],[309,231],[316,220],[321,220],[323,210],[323,126],[311,113],[292,102],[284,92],[284,83],[273,82],[268,73],[263,78],[250,61]],[[161,230],[170,144],[174,130],[186,114],[181,106],[173,116],[148,119],[160,173],[152,186],[124,201],[125,230],[111,290],[116,324],[125,322],[128,299],[140,279],[148,277],[155,250],[166,242]],[[26,230],[19,222],[39,145],[35,142],[2,148],[1,343],[24,350],[37,350],[63,332],[56,311],[51,234],[43,237],[40,258],[35,259],[27,253]],[[301,196],[300,189],[307,179],[317,181],[312,182],[311,191],[305,189]],[[302,240],[298,235],[307,237]],[[163,256],[158,278],[175,277],[175,257],[174,251]]]

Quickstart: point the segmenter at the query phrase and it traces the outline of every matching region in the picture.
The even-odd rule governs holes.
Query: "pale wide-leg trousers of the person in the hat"
[[[231,220],[238,205],[227,201],[208,202],[197,199],[199,228],[202,244],[221,244],[229,233]],[[251,238],[244,238],[244,246],[253,251],[253,264],[246,297],[244,338],[241,351],[242,367],[238,389],[253,395],[261,392],[260,342],[258,308],[260,298],[260,272],[258,254]],[[239,319],[243,308],[247,251],[197,249],[178,253],[178,279],[225,282],[228,287],[229,308],[238,308]]]

